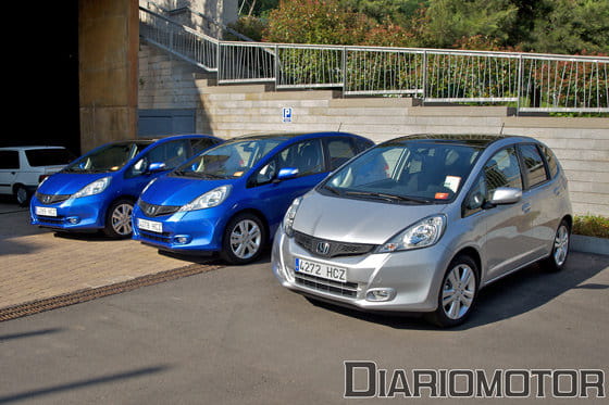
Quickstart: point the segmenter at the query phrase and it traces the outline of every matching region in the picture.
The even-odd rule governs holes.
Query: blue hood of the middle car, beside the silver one
[[[235,179],[206,180],[191,177],[161,176],[141,193],[140,199],[156,205],[184,205],[216,187]]]

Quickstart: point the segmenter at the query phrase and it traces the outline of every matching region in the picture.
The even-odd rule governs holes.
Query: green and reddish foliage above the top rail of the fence
[[[258,4],[263,16],[257,29],[266,41],[609,53],[607,0],[264,0]]]

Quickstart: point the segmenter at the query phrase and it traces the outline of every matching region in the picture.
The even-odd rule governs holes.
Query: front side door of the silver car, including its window
[[[489,201],[498,187],[523,188],[522,173],[515,147],[496,152],[484,165],[481,174],[484,181],[485,201]],[[483,218],[478,225],[486,232],[482,236],[481,246],[486,262],[484,281],[497,278],[529,261],[531,256],[529,198],[513,204],[486,206],[481,210]]]

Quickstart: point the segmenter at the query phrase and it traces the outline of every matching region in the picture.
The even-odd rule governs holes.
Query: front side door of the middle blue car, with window
[[[296,168],[298,174],[277,181],[276,175],[282,168]],[[327,172],[321,139],[309,139],[276,153],[251,175],[247,185],[251,204],[266,215],[271,232],[294,199],[315,187]]]

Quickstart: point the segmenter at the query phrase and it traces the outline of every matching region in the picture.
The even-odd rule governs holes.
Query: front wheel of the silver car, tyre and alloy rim
[[[478,275],[477,265],[470,256],[455,257],[442,280],[437,308],[426,315],[427,320],[442,328],[464,322],[477,299]]]

